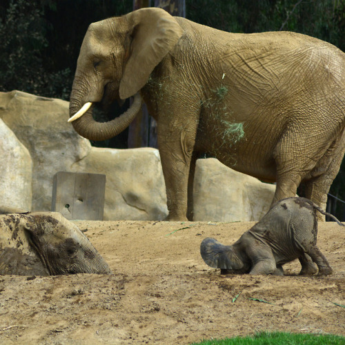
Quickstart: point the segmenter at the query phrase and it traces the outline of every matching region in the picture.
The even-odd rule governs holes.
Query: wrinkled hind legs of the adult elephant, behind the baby
[[[273,203],[294,197],[297,187],[304,181],[306,197],[324,207],[322,204],[326,202],[328,189],[344,155],[344,138],[339,135],[337,128],[328,128],[328,132],[319,135],[319,139],[311,139],[313,132],[313,128],[304,128],[301,132],[297,125],[292,125],[277,143],[274,152],[277,188]]]

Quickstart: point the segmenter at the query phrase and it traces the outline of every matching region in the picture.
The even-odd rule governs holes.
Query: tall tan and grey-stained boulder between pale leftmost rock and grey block
[[[0,92],[0,104],[0,118],[32,158],[32,210],[48,211],[53,176],[58,171],[70,171],[75,161],[88,155],[90,141],[67,123],[67,101],[12,91]]]

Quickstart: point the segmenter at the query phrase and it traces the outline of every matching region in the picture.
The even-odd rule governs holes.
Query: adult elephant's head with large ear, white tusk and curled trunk
[[[88,139],[105,140],[128,127],[141,106],[139,90],[181,34],[177,21],[159,8],[92,23],[81,45],[70,96],[69,121],[75,130]],[[120,117],[105,123],[92,118],[95,105],[133,95],[132,106]]]

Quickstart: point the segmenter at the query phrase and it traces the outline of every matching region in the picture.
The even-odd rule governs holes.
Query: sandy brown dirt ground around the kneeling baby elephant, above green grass
[[[345,229],[333,222],[319,224],[318,236],[335,271],[329,277],[298,277],[299,262],[286,264],[284,277],[219,275],[204,264],[204,237],[231,244],[253,223],[76,223],[113,274],[0,277],[1,344],[190,344],[264,330],[345,335]]]

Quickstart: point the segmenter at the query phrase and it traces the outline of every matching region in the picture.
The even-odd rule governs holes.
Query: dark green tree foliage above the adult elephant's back
[[[287,30],[345,50],[344,0],[186,0],[187,18],[229,32]]]

